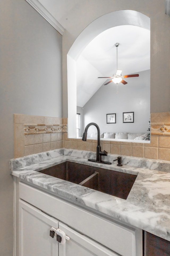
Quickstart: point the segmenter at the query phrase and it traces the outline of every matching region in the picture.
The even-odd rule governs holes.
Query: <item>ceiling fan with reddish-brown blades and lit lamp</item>
[[[115,43],[116,46],[116,51],[117,51],[117,47],[119,46],[119,43]],[[118,83],[123,83],[124,85],[127,84],[127,82],[123,79],[123,78],[127,78],[127,77],[138,77],[139,74],[134,74],[134,75],[122,75],[122,70],[117,69],[116,74],[113,75],[113,77],[98,77],[98,78],[112,78],[109,82],[105,83],[104,85],[108,85],[108,83],[114,82],[118,85]],[[118,93],[118,91],[117,91]]]

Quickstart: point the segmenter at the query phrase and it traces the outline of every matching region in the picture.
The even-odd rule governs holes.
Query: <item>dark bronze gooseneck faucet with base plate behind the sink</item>
[[[97,148],[96,148],[96,160],[95,159],[88,159],[88,161],[92,161],[92,162],[98,162],[98,163],[106,163],[108,165],[111,165],[111,162],[107,162],[107,161],[102,161],[101,156],[102,155],[107,155],[107,151],[101,151],[101,146],[100,146],[100,128],[96,123],[89,123],[83,133],[83,137],[82,137],[82,141],[86,141],[87,140],[87,131],[88,128],[94,125],[97,128]]]

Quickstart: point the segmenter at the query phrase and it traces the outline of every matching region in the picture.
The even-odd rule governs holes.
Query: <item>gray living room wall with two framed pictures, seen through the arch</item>
[[[126,85],[112,82],[102,85],[83,106],[84,128],[90,122],[99,125],[101,132],[147,133],[150,120],[150,70],[138,72],[139,77],[126,78]],[[134,123],[123,123],[123,112],[134,112]],[[116,113],[116,123],[106,123],[106,114]],[[83,128],[83,129],[84,129]],[[96,132],[90,126],[88,137]]]

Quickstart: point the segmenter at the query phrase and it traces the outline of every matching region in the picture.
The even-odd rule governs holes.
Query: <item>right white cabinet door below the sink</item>
[[[59,256],[118,256],[118,254],[105,248],[94,240],[76,232],[62,222],[59,229],[70,238],[62,245],[59,243]]]

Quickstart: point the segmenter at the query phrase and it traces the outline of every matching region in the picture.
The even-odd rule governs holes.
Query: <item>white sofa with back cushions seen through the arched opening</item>
[[[146,140],[148,133],[100,133],[100,138],[104,139],[134,139]],[[92,133],[91,138],[97,139],[97,133]]]

